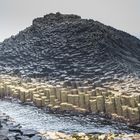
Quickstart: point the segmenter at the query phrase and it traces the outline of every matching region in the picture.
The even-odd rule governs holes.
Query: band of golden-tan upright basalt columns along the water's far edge
[[[7,75],[0,79],[1,98],[13,97],[55,111],[105,114],[121,121],[140,123],[140,94],[123,94],[111,87],[73,89],[45,82],[26,82]]]

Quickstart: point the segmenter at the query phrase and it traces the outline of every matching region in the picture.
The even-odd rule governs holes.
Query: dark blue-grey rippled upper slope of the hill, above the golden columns
[[[94,20],[45,15],[0,44],[0,72],[108,81],[138,73],[140,40]]]

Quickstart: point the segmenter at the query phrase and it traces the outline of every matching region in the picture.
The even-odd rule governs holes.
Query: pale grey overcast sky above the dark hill
[[[0,42],[51,12],[98,20],[140,38],[140,0],[0,0]]]

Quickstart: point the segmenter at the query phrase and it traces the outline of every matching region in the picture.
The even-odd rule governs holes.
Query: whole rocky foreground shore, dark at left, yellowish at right
[[[139,140],[139,134],[65,134],[62,132],[37,132],[30,129],[22,129],[22,126],[14,122],[9,116],[0,112],[0,140]]]

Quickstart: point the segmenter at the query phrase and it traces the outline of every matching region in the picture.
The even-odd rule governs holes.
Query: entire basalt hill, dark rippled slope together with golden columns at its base
[[[134,36],[77,15],[51,13],[0,43],[0,98],[138,124],[139,54]]]

